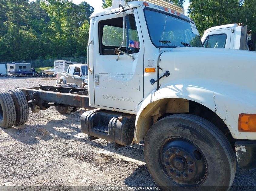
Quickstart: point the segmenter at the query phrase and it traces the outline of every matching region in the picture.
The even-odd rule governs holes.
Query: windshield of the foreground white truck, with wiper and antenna
[[[154,46],[158,48],[202,47],[198,31],[193,23],[175,18],[171,14],[166,17],[166,13],[148,9],[145,10],[145,18]]]

